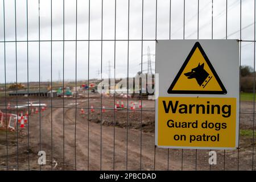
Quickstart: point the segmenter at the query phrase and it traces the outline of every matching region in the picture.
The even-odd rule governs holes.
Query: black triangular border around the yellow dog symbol
[[[218,84],[220,85],[221,90],[172,90],[177,82],[179,80],[179,77],[181,73],[183,73],[185,67],[187,66],[189,60],[191,59],[193,53],[196,51],[196,48],[199,48],[199,51],[203,55],[205,61],[208,64],[208,67],[213,73],[213,76],[216,78]],[[185,62],[183,63],[182,67],[180,68],[180,71],[177,73],[176,77],[174,78],[174,81],[172,81],[172,84],[170,88],[167,91],[169,94],[226,94],[225,86],[222,84],[220,78],[218,77],[216,71],[214,70],[212,64],[210,63],[210,60],[208,59],[206,53],[204,52],[204,49],[201,47],[199,42],[196,42],[191,51],[189,52],[189,55]]]

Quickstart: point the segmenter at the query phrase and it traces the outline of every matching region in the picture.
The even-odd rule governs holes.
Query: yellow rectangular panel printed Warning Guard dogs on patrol
[[[236,147],[236,98],[158,98],[158,146]]]

